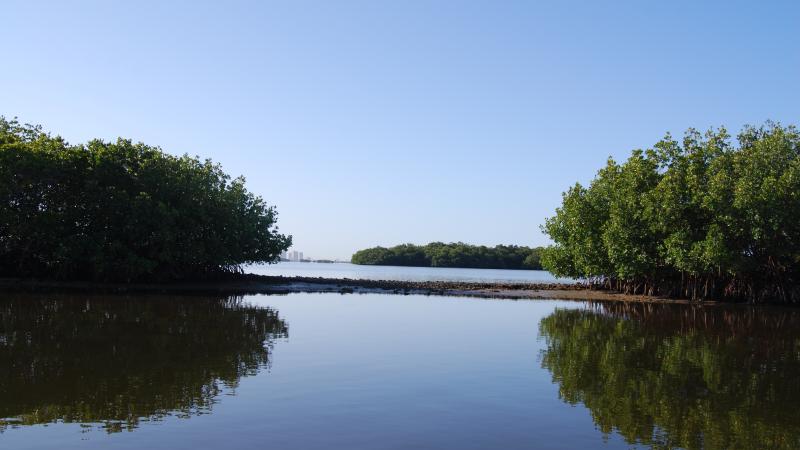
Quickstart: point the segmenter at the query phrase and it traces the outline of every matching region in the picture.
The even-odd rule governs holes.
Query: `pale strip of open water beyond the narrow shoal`
[[[350,263],[281,262],[250,266],[247,272],[285,277],[350,278],[467,283],[574,283],[544,270],[462,269],[450,267],[363,266]]]

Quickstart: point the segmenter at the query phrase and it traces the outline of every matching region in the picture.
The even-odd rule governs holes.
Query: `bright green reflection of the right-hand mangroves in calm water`
[[[542,319],[542,366],[604,433],[652,448],[800,448],[800,314],[600,304]]]

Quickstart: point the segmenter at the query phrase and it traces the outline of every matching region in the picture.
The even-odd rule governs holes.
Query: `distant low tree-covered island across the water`
[[[353,264],[415,267],[465,267],[476,269],[539,270],[541,248],[518,245],[469,245],[463,242],[427,245],[402,244],[394,247],[373,247],[359,250],[351,258]]]

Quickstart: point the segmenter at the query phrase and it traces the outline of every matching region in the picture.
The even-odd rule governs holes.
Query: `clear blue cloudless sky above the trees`
[[[211,157],[295,249],[546,244],[665,132],[798,123],[800,2],[4,1],[0,114]]]

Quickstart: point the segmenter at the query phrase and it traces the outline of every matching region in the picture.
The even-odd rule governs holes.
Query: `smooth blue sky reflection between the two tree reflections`
[[[208,414],[168,416],[114,434],[96,428],[81,433],[77,424],[23,426],[6,430],[0,444],[629,447],[616,432],[604,437],[582,404],[564,402],[553,373],[542,368],[552,338],[540,335],[542,320],[557,308],[583,309],[583,303],[375,294],[249,296],[245,303],[277,311],[288,337],[271,339],[269,365],[216,393]],[[191,353],[192,344],[186,346]],[[558,362],[570,361],[578,365],[565,367],[581,369],[579,360]]]

